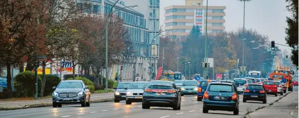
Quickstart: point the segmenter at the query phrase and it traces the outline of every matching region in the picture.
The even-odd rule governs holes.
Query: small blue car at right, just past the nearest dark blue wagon
[[[262,84],[250,83],[246,86],[243,94],[243,102],[247,100],[262,101],[267,103],[267,93]]]

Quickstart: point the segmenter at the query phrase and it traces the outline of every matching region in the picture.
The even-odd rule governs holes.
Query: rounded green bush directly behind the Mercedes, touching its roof
[[[43,78],[43,75],[40,75]],[[53,86],[57,86],[61,79],[56,75],[46,74],[46,85],[44,90],[44,96],[51,95],[54,89]]]

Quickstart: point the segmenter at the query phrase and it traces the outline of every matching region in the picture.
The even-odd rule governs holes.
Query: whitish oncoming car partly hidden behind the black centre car
[[[135,81],[130,84],[126,93],[126,104],[142,102],[143,88],[148,86],[148,81]]]

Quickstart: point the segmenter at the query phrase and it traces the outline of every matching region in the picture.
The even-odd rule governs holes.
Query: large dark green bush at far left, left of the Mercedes
[[[15,88],[17,89],[17,96],[34,96],[35,93],[35,72],[23,71],[16,75]],[[38,75],[38,93],[41,91],[42,78]]]

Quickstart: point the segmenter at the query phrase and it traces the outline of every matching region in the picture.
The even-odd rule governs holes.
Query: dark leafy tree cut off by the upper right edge
[[[293,47],[290,58],[293,64],[298,66],[298,0],[285,1],[288,3],[287,10],[291,12],[291,16],[286,17],[285,40],[290,47]]]

